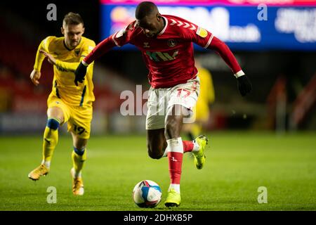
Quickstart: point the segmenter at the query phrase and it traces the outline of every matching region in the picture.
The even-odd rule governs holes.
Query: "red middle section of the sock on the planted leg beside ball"
[[[168,153],[170,184],[180,184],[183,153]]]

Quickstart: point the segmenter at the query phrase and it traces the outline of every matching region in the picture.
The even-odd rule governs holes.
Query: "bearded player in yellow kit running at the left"
[[[53,88],[48,96],[48,121],[44,131],[43,160],[39,167],[29,173],[29,179],[37,181],[40,176],[50,171],[53,151],[58,143],[58,128],[67,122],[68,131],[72,134],[74,150],[72,151],[73,167],[72,192],[84,194],[81,169],[86,160],[86,144],[90,137],[92,120],[93,65],[89,65],[86,79],[78,86],[74,84],[74,70],[80,61],[96,46],[95,42],[84,34],[84,21],[77,13],[68,13],[62,21],[63,37],[46,37],[37,51],[34,70],[30,78],[35,85],[41,77],[41,64],[44,58],[53,64]]]

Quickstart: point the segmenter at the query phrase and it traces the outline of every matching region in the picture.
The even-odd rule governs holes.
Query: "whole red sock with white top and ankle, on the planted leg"
[[[183,141],[179,137],[177,139],[167,140],[169,152],[169,174],[170,186],[169,191],[173,188],[176,192],[180,193],[180,178],[182,171],[183,160]]]

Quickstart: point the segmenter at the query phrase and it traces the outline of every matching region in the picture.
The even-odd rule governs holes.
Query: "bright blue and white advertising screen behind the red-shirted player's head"
[[[137,0],[103,0],[101,39],[135,18]],[[316,50],[316,1],[154,1],[162,14],[177,15],[213,32],[232,49]],[[131,45],[123,49],[133,49]]]

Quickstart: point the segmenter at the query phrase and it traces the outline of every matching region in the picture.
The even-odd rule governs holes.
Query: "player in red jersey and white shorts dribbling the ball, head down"
[[[142,53],[149,70],[151,84],[146,117],[147,148],[151,158],[169,158],[171,184],[164,204],[180,205],[180,175],[183,153],[192,152],[195,166],[205,162],[206,136],[195,141],[182,141],[183,120],[199,96],[199,76],[195,68],[193,43],[216,51],[237,78],[242,96],[251,91],[244,75],[227,45],[198,25],[173,15],[161,15],[157,6],[143,1],[136,8],[136,20],[125,29],[112,34],[96,46],[79,64],[75,84],[84,81],[87,66],[114,46],[133,44]],[[165,107],[166,104],[166,107]]]

